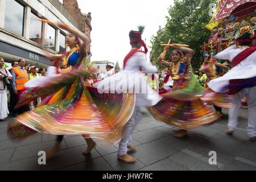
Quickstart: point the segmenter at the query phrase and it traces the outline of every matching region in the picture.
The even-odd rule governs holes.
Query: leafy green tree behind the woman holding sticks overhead
[[[191,61],[193,69],[197,70],[203,63],[203,43],[208,42],[210,32],[204,28],[205,24],[212,18],[209,16],[209,4],[216,3],[216,0],[174,0],[174,6],[168,9],[167,23],[165,28],[159,27],[156,36],[151,38],[152,60],[162,69],[156,61],[163,46],[160,43],[188,44],[195,51]],[[171,51],[168,51],[167,58]],[[166,59],[167,59],[166,58]]]

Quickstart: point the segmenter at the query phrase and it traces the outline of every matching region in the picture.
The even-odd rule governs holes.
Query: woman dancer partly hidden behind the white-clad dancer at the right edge
[[[205,61],[204,64],[201,66],[199,69],[200,72],[203,72],[207,75],[207,79],[205,80],[205,88],[207,89],[204,96],[201,98],[201,100],[207,101],[209,104],[213,104],[215,110],[222,114],[222,109],[229,109],[231,106],[231,98],[228,96],[228,94],[220,94],[213,92],[209,87],[208,87],[208,82],[210,80],[218,78],[218,70],[222,69],[228,69],[223,64],[218,63],[217,60],[213,59],[213,55],[209,55]]]

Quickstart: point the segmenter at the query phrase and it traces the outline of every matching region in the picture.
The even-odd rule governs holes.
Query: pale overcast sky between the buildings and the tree
[[[145,26],[143,39],[164,27],[172,0],[78,0],[82,13],[92,13],[92,61],[109,60],[120,66],[130,51],[129,31]],[[149,51],[148,51],[149,52]],[[149,57],[149,53],[147,54]]]

